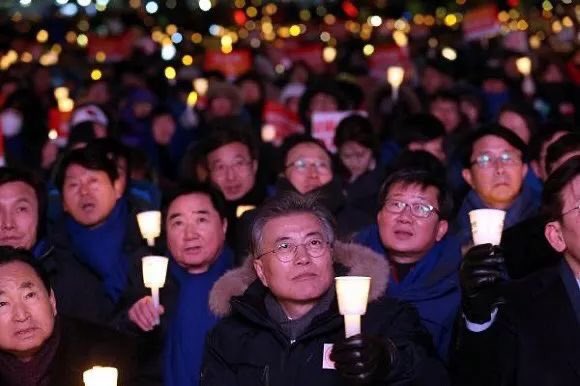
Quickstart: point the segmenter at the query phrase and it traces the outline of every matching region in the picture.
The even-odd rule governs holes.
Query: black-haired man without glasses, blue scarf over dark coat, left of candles
[[[66,214],[51,229],[55,253],[45,266],[59,312],[109,324],[146,251],[136,220],[145,205],[122,194],[115,161],[94,147],[68,153],[56,185]]]

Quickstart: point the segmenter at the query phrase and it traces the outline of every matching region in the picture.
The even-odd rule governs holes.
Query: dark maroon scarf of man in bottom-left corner
[[[44,342],[40,351],[28,362],[0,352],[0,385],[2,386],[48,386],[50,366],[60,342],[58,323],[55,322],[52,335]]]

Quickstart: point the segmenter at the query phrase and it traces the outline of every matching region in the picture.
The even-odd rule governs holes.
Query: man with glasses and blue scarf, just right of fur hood
[[[442,359],[459,309],[459,240],[447,235],[451,198],[445,177],[418,168],[395,170],[379,193],[377,223],[355,241],[391,266],[387,295],[412,303]]]

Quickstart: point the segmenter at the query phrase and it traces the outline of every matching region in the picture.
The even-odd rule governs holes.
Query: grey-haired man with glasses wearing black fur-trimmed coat
[[[259,209],[251,259],[212,289],[210,306],[225,318],[207,338],[201,385],[446,383],[415,311],[382,297],[384,259],[334,237],[332,217],[312,199],[287,194]],[[341,275],[371,277],[362,334],[346,340]]]

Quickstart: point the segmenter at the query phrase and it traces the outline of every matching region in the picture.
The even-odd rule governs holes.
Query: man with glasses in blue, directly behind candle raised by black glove
[[[471,210],[505,210],[504,229],[536,214],[537,196],[523,183],[528,166],[526,144],[520,137],[493,124],[473,133],[464,151],[462,174],[471,191],[463,200],[455,224],[462,243],[471,240]]]

